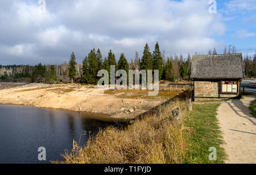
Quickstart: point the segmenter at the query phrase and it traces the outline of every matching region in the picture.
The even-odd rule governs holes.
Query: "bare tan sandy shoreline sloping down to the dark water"
[[[80,84],[23,85],[0,82],[0,104],[107,114],[112,118],[133,118],[163,102],[164,100],[108,95],[104,93],[104,89]]]

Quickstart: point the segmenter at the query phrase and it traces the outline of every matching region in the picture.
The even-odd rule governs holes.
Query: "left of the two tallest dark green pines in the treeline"
[[[143,57],[141,58],[140,70],[152,70],[153,68],[153,58],[150,52],[150,48],[146,44],[144,47]]]

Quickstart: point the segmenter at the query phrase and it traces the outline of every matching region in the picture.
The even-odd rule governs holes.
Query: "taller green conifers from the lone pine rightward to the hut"
[[[68,67],[68,77],[75,79],[77,69],[76,56],[71,54]],[[160,80],[170,80],[175,82],[176,79],[189,79],[191,74],[191,56],[188,54],[187,59],[176,54],[165,57],[164,52],[160,51],[159,44],[156,42],[155,50],[151,53],[148,44],[144,46],[143,56],[139,58],[138,52],[135,52],[135,58],[127,61],[125,54],[121,53],[119,59],[115,58],[112,50],[109,51],[108,57],[102,59],[100,49],[92,49],[88,56],[82,62],[82,76],[80,82],[88,84],[96,84],[98,82],[97,72],[99,70],[107,70],[110,75],[110,66],[115,66],[115,71],[125,70],[129,75],[129,70],[159,70]]]

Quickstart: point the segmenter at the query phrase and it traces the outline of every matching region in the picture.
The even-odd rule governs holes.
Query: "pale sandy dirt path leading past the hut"
[[[255,96],[226,101],[218,108],[217,118],[224,133],[224,148],[228,154],[225,163],[256,163],[256,118],[251,116],[250,104]]]

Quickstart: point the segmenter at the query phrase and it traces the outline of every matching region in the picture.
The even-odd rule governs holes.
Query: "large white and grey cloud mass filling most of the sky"
[[[146,42],[152,51],[156,41],[166,54],[206,53],[222,43],[213,36],[225,33],[222,16],[210,14],[205,0],[55,0],[47,1],[46,14],[32,0],[0,5],[8,5],[0,11],[0,44],[32,45],[31,54],[45,62],[67,60],[72,51],[81,61],[93,47],[104,56],[112,49],[131,58],[136,50],[142,54]],[[29,53],[21,48],[19,58]]]

